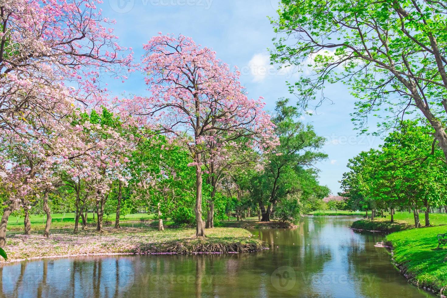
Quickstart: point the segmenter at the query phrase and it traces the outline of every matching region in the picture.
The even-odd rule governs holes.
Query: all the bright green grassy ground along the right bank
[[[386,217],[361,219],[352,227],[369,231],[392,232],[387,235],[392,261],[409,282],[430,292],[443,295],[447,287],[447,248],[438,248],[438,234],[447,233],[447,214],[430,213],[430,227],[414,228],[413,213],[396,212],[394,223]],[[445,297],[445,296],[444,296]]]

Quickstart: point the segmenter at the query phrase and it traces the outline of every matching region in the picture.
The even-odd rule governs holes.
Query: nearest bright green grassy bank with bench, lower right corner
[[[436,235],[446,226],[410,229],[392,233],[387,240],[393,247],[393,261],[413,284],[439,294],[447,286],[447,248],[437,248]],[[444,292],[444,290],[442,291]]]

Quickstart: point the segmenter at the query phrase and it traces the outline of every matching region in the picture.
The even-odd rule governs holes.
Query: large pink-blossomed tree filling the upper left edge
[[[63,135],[63,128],[72,131],[66,116],[75,107],[107,103],[107,86],[100,80],[103,73],[123,80],[132,70],[131,52],[124,53],[127,49],[118,45],[110,29],[113,22],[101,16],[97,3],[0,3],[0,141],[11,148],[24,145],[16,146],[22,159],[11,150],[1,152],[2,183],[13,189],[0,222],[0,247],[8,216],[20,205],[20,196],[29,191],[34,177],[88,149],[76,133]]]

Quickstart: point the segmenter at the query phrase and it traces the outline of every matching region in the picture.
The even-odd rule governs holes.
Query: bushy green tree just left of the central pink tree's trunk
[[[190,162],[184,148],[169,144],[162,135],[141,138],[132,153],[131,196],[156,210],[160,231],[168,216],[178,224],[194,222],[190,210],[194,210],[195,170]]]

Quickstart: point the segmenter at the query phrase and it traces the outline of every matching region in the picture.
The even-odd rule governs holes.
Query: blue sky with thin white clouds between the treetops
[[[142,44],[162,33],[190,36],[196,43],[212,48],[219,59],[237,66],[241,82],[249,97],[262,96],[266,109],[273,110],[280,97],[296,98],[287,91],[286,81],[294,82],[297,74],[277,71],[269,65],[267,48],[272,46],[275,34],[267,16],[276,14],[277,0],[104,0],[99,6],[103,16],[115,19],[115,33],[122,46],[132,47],[137,61],[142,55]],[[125,83],[111,84],[115,95],[131,92],[143,95],[143,76],[134,73]],[[329,159],[317,168],[320,182],[328,185],[334,194],[339,191],[338,181],[346,171],[348,159],[358,152],[377,147],[379,137],[357,136],[350,121],[354,98],[346,86],[327,86],[326,97],[333,104],[324,104],[302,121],[311,123],[316,133],[328,141],[323,151]]]

